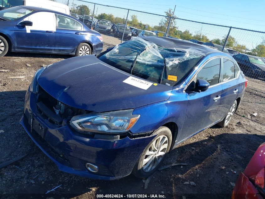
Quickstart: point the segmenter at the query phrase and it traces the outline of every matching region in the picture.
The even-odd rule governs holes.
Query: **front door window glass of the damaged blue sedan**
[[[206,80],[210,86],[219,83],[220,78],[221,59],[216,58],[209,61],[204,67],[197,73],[197,79]]]

